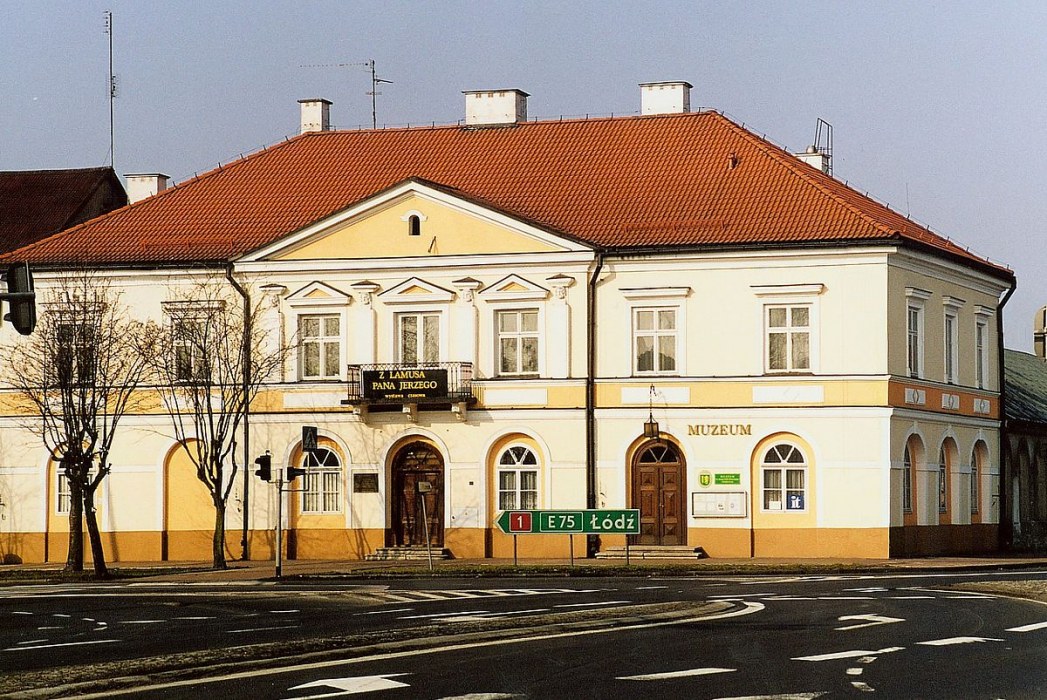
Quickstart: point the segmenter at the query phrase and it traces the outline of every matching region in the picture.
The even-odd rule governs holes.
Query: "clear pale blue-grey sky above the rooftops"
[[[37,0],[0,22],[0,170],[107,165],[113,13],[118,173],[176,181],[332,122],[453,122],[462,90],[520,88],[531,117],[628,114],[638,83],[686,80],[794,151],[819,117],[834,173],[1009,265],[1007,345],[1047,303],[1047,3]]]

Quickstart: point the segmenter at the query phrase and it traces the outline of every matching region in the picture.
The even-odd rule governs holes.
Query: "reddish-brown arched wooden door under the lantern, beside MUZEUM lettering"
[[[640,535],[632,544],[687,544],[686,469],[668,443],[641,448],[632,462],[632,507],[640,509]]]

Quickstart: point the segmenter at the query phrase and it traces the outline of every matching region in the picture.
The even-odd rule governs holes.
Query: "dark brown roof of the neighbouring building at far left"
[[[0,173],[0,250],[14,250],[128,203],[111,167]]]

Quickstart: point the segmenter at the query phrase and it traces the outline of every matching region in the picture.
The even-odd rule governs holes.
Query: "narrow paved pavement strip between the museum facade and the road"
[[[229,561],[225,570],[210,568],[209,562],[116,562],[109,563],[111,570],[134,571],[135,581],[140,582],[245,582],[272,580],[275,565],[272,561]],[[17,572],[24,580],[32,571],[58,571],[63,563],[0,565],[0,583],[5,572]],[[761,574],[761,573],[859,573],[882,571],[925,571],[925,570],[978,570],[978,569],[1032,569],[1047,567],[1047,557],[987,556],[987,557],[926,557],[918,559],[700,559],[700,560],[636,560],[626,567],[624,560],[575,559],[574,564],[564,560],[519,560],[514,567],[512,560],[444,560],[433,561],[430,573],[425,561],[417,562],[362,562],[340,560],[292,560],[282,567],[284,579],[296,577],[346,577],[382,578],[428,575],[449,577],[512,575],[514,569],[530,575],[600,575],[606,570],[608,575],[621,575],[624,569],[638,575],[701,575],[717,573]],[[85,566],[90,571],[90,564]],[[146,574],[146,575],[140,575]],[[15,580],[13,575],[12,581]]]

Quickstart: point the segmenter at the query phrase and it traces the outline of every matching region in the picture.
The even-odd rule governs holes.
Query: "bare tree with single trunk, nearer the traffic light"
[[[225,568],[226,504],[246,467],[237,462],[237,436],[251,401],[290,348],[269,341],[262,304],[251,303],[231,277],[173,289],[164,308],[165,349],[156,362],[160,396],[176,439],[210,494],[214,567]]]

